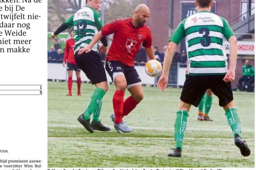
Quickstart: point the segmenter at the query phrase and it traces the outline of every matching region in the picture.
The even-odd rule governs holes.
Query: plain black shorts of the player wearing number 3
[[[225,83],[222,79],[225,75],[186,75],[180,99],[182,102],[198,106],[207,88],[210,88],[218,98],[219,106],[226,106],[233,100],[231,83]]]

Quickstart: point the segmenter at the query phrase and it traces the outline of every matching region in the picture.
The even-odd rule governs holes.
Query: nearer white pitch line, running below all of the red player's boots
[[[169,137],[48,137],[48,139],[171,139]],[[200,138],[200,137],[184,137],[184,139],[219,139],[219,140],[234,140],[233,138]],[[254,140],[254,138],[247,138],[244,140]]]

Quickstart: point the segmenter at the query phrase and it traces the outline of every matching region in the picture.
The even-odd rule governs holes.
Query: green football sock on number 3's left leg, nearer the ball
[[[183,148],[183,137],[184,132],[187,126],[187,118],[188,118],[188,112],[185,110],[179,110],[177,112],[176,121],[174,124],[174,139],[175,139],[175,149],[177,148]]]

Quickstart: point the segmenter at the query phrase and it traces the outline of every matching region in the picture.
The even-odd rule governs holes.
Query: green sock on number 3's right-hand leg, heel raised
[[[233,131],[233,136],[239,135],[241,137],[241,121],[237,114],[237,109],[229,108],[226,111],[227,122]]]

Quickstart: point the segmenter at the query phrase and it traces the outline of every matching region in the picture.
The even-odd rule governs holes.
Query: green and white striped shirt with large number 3
[[[202,11],[182,20],[169,41],[185,37],[189,75],[223,75],[227,72],[224,41],[234,35],[226,19]]]

